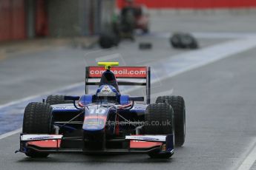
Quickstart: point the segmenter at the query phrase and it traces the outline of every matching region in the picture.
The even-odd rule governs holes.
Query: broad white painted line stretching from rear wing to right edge
[[[206,66],[208,64],[219,61],[223,58],[228,58],[240,52],[245,52],[256,47],[256,37],[243,38],[239,40],[227,41],[211,47],[206,47],[200,50],[184,52],[182,54],[171,56],[168,59],[162,59],[154,64],[151,64],[152,72],[157,75],[157,78],[151,81],[151,84],[180,75],[183,72],[188,72],[192,69]],[[178,66],[178,67],[177,67]],[[165,72],[165,74],[163,74]],[[126,93],[140,89],[140,86],[125,90]]]

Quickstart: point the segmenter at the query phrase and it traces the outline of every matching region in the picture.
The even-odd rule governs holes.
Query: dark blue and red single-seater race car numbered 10
[[[20,148],[28,157],[52,153],[142,153],[169,158],[186,135],[185,102],[180,96],[150,98],[150,67],[99,62],[86,67],[85,95],[50,95],[24,109]],[[124,95],[119,86],[145,86],[144,96]],[[89,95],[89,86],[97,86]],[[140,103],[139,103],[140,102]]]

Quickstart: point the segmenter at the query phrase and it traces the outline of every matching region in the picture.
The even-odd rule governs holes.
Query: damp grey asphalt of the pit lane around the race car
[[[225,32],[225,24],[222,27],[220,23],[226,23],[229,17],[219,18],[216,29]],[[200,24],[200,21],[197,22]],[[246,27],[250,23],[243,21],[243,24],[247,24]],[[171,26],[163,26],[163,31],[168,30],[167,27]],[[84,72],[84,64],[93,63],[95,58],[106,53],[121,54],[121,61],[125,58],[128,65],[147,65],[156,58],[187,52],[172,50],[166,38],[145,36],[137,41],[154,41],[156,48],[139,51],[137,44],[126,41],[119,49],[93,52],[86,58],[85,53],[90,51],[65,47],[36,55],[7,57],[0,61],[1,80],[5,80],[0,82],[0,103],[58,89],[71,81],[80,82],[83,80],[81,72]],[[200,40],[203,47],[221,41],[226,39]],[[47,159],[30,159],[23,154],[13,153],[19,148],[19,135],[12,135],[0,140],[0,169],[235,169],[243,160],[250,141],[256,136],[255,52],[254,48],[165,79],[159,88],[152,89],[152,93],[173,89],[173,95],[182,95],[186,100],[186,143],[175,150],[170,160],[149,159],[143,154],[99,157],[52,154]],[[63,72],[67,64],[70,64],[70,71]],[[134,91],[131,95],[139,93]]]

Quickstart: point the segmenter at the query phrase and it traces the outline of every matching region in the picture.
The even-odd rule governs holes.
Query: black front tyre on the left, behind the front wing
[[[52,107],[48,103],[29,103],[24,110],[22,133],[50,134]],[[27,157],[47,157],[48,153],[28,150]]]

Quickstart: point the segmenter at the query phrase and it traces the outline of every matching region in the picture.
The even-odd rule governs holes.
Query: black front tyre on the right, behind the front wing
[[[169,135],[173,134],[174,111],[168,103],[152,103],[145,110],[146,135]],[[156,123],[159,123],[158,125]],[[171,122],[171,123],[168,123]],[[155,126],[152,126],[155,125]],[[169,158],[171,153],[161,154],[160,152],[150,152],[151,158]]]

